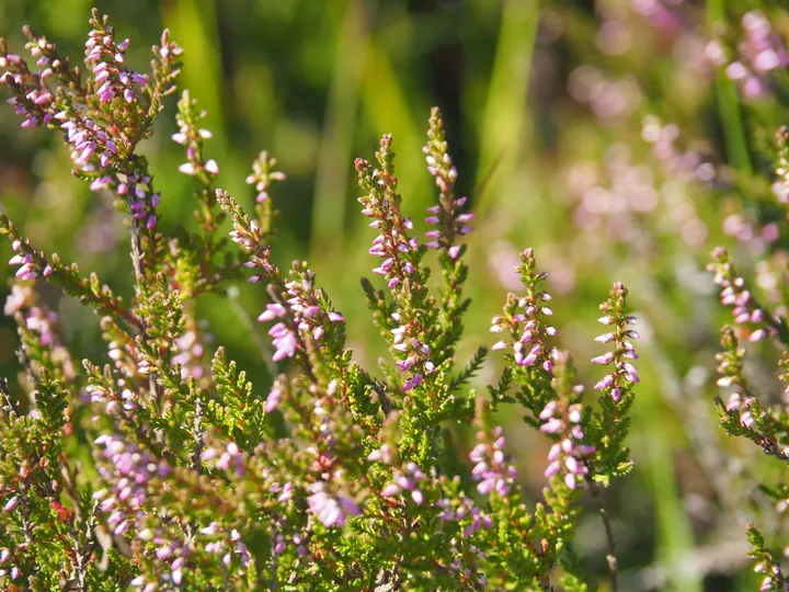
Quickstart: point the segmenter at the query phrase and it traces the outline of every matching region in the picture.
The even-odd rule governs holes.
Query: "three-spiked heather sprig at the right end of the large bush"
[[[550,539],[562,567],[567,571],[565,585],[583,589],[578,560],[567,548],[578,514],[572,505],[579,499],[578,487],[585,483],[598,506],[608,544],[607,561],[611,588],[617,588],[618,568],[616,544],[610,520],[605,510],[599,486],[608,487],[610,479],[629,473],[632,463],[625,440],[629,432],[627,412],[633,402],[632,385],[639,382],[638,371],[630,360],[638,358],[630,340],[639,334],[630,329],[634,317],[626,312],[627,289],[616,283],[608,300],[599,307],[604,316],[598,319],[610,331],[596,338],[602,343],[614,343],[614,351],[592,360],[594,364],[613,365],[613,369],[595,385],[602,390],[599,408],[584,406],[582,385],[574,384],[575,371],[568,352],[548,345],[548,338],[557,334],[546,317],[553,311],[545,303],[551,297],[539,291],[546,273],[537,271],[534,252],[521,253],[521,274],[526,295],[518,298],[507,295],[504,314],[493,319],[493,332],[506,332],[510,340],[499,341],[494,350],[513,349],[505,356],[514,365],[507,366],[500,384],[490,388],[493,402],[511,403],[516,400],[528,411],[524,421],[539,429],[553,444],[548,454],[545,471],[551,488],[546,489],[546,501],[554,511]],[[523,309],[523,312],[521,311]],[[511,384],[517,384],[515,396],[507,395]],[[546,517],[547,522],[551,522]],[[550,546],[548,547],[550,548]]]

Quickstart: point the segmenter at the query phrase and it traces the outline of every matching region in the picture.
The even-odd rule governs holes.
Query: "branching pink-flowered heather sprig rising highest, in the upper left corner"
[[[90,24],[84,81],[78,68],[68,70],[68,60],[57,55],[53,44],[27,30],[26,47],[38,58],[41,69],[31,71],[21,57],[8,54],[2,42],[0,57],[5,71],[0,80],[8,86],[16,113],[25,117],[22,125],[65,129],[73,174],[90,181],[94,191],[110,189],[129,212],[139,283],[150,277],[146,270],[153,265],[161,237],[156,213],[160,195],[146,158],[136,149],[150,135],[163,98],[174,91],[181,48],[164,32],[162,45],[155,47],[151,73],[145,76],[126,66],[129,41],[117,41],[108,18],[94,10]],[[50,80],[55,67],[59,76]]]

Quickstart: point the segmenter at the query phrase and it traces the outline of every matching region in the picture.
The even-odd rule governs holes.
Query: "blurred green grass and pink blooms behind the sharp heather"
[[[591,386],[602,375],[585,362],[602,353],[593,340],[597,305],[613,282],[624,282],[642,334],[642,384],[630,440],[636,471],[608,492],[621,589],[758,587],[744,555],[745,523],[759,521],[780,540],[784,526],[755,478],[774,481],[784,467],[717,426],[717,328],[727,314],[705,272],[716,244],[752,261],[773,238],[751,236],[748,247],[737,247],[750,228],[742,180],[754,195],[767,195],[768,185],[757,174],[764,162],[750,162],[741,141],[737,89],[716,75],[708,46],[736,35],[742,13],[758,2],[731,3],[731,13],[716,0],[96,3],[119,38],[132,38],[130,67],[145,70],[163,27],[184,48],[181,88],[208,113],[214,139],[206,156],[219,163],[220,186],[251,205],[244,178],[253,159],[262,149],[278,159],[288,180],[274,190],[282,213],[274,259],[310,262],[346,316],[355,357],[373,371],[384,348],[358,278],[377,263],[366,253],[374,235],[358,214],[353,159],[370,159],[380,135],[392,133],[403,208],[424,230],[436,195],[421,147],[430,107],[441,106],[459,193],[478,217],[460,358],[494,341],[490,319],[506,292],[519,288],[517,252],[534,247],[549,273],[559,342]],[[22,53],[20,30],[30,23],[78,62],[92,4],[3,0],[0,35]],[[773,15],[786,30],[786,16]],[[748,140],[768,143],[780,94],[752,99]],[[162,193],[165,231],[193,224],[194,187],[176,170],[182,147],[169,139],[175,101],[142,148]],[[3,209],[34,246],[130,295],[127,236],[110,196],[70,175],[56,134],[19,124],[11,109],[0,110]],[[10,252],[0,243],[5,260]],[[2,300],[7,277],[8,266],[0,271]],[[215,343],[228,346],[261,394],[271,377],[253,319],[264,297],[260,286],[242,284],[237,298],[199,304]],[[68,320],[65,338],[78,356],[100,362],[98,319],[55,292],[44,299]],[[0,375],[12,379],[15,348],[12,319],[0,318]],[[495,379],[499,362],[491,357],[473,388]],[[764,382],[779,392],[769,377]],[[537,499],[547,443],[507,411],[511,452]],[[578,550],[605,587],[605,538],[592,508]]]

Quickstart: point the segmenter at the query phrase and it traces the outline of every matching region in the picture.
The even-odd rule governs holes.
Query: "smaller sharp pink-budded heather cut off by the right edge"
[[[787,130],[781,127],[776,136],[776,168],[778,177],[773,185],[773,193],[782,203],[785,201],[781,179],[785,172],[787,155]],[[758,209],[756,210],[758,215]],[[785,226],[784,223],[763,223],[767,226]],[[777,230],[776,230],[777,232]],[[732,436],[751,441],[762,448],[765,455],[787,463],[789,460],[789,415],[786,410],[787,390],[786,373],[787,358],[786,344],[789,343],[789,328],[786,325],[786,307],[782,303],[781,285],[785,281],[781,269],[785,265],[786,253],[776,246],[767,251],[761,246],[753,244],[754,237],[758,240],[764,236],[751,234],[741,241],[751,243],[751,250],[757,253],[755,263],[756,277],[751,280],[743,276],[736,269],[729,252],[718,247],[712,252],[713,261],[709,271],[714,283],[720,287],[720,301],[731,309],[732,319],[721,329],[721,349],[717,354],[718,375],[717,385],[722,387],[727,399],[716,398],[716,407],[720,415],[721,428]],[[763,243],[764,244],[764,243]],[[768,343],[759,352],[747,351],[748,343]],[[755,376],[756,371],[773,375],[766,380],[764,376]],[[776,394],[777,386],[782,392]],[[789,486],[784,479],[764,479],[759,482],[762,494],[771,500],[778,514],[785,512],[789,497]],[[761,519],[780,521],[780,517]],[[767,523],[768,524],[768,523]],[[763,530],[767,524],[747,525],[747,540],[752,547],[748,553],[755,561],[754,570],[764,573],[761,590],[785,590],[789,580],[781,567],[777,546],[784,546],[782,555],[787,554],[785,540],[776,537],[765,538]]]

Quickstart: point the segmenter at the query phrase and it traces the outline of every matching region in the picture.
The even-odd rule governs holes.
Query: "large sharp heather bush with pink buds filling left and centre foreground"
[[[616,590],[604,490],[631,468],[625,441],[639,383],[625,286],[599,306],[602,346],[591,362],[605,374],[588,395],[554,345],[547,274],[531,249],[521,252],[523,287],[491,323],[503,369],[474,392],[469,382],[488,348],[470,360],[457,353],[471,304],[464,237],[473,214],[456,194],[433,110],[424,157],[438,196],[425,237],[398,193],[392,137],[373,161],[355,161],[381,276],[362,288],[389,350],[363,368],[307,262],[281,270],[272,259],[274,185],[284,181],[276,160],[262,152],[254,162],[254,206],[242,207],[219,187],[205,114],[186,91],[172,139],[185,148],[179,171],[194,187],[195,225],[160,215],[167,195],[140,143],[176,91],[182,50],[165,31],[138,72],[106,16],[94,10],[90,25],[84,68],[30,30],[31,61],[0,41],[1,80],[22,126],[61,134],[72,173],[113,196],[134,282],[133,297],[121,298],[0,214],[15,269],[4,314],[19,327],[22,368],[18,386],[0,383],[3,587],[585,590],[594,582],[574,538],[587,492]],[[274,368],[271,385],[253,385],[197,317],[201,297],[225,298],[242,277],[266,298],[258,320],[271,338],[261,360]],[[101,357],[76,360],[61,329],[68,319],[43,304],[43,285],[96,314]],[[550,442],[537,502],[518,482],[511,454],[519,451],[495,423],[502,408],[518,409]]]

